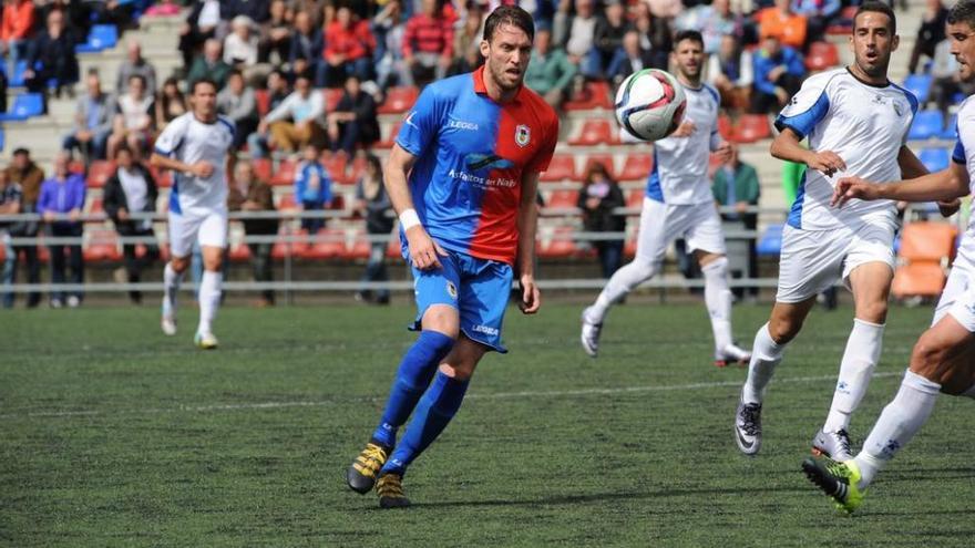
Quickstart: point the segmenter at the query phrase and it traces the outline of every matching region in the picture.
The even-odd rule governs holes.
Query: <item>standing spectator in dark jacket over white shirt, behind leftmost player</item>
[[[122,244],[125,268],[116,273],[115,281],[138,283],[142,271],[160,258],[160,248],[155,244],[153,219],[134,219],[133,214],[154,214],[158,190],[152,173],[135,161],[129,147],[120,146],[115,151],[115,164],[117,166],[115,173],[105,182],[103,190],[105,214],[112,219],[119,236],[153,238],[152,241],[143,244],[145,252],[142,257],[136,252],[136,244]],[[142,292],[132,290],[129,292],[129,299],[133,304],[140,304]]]

